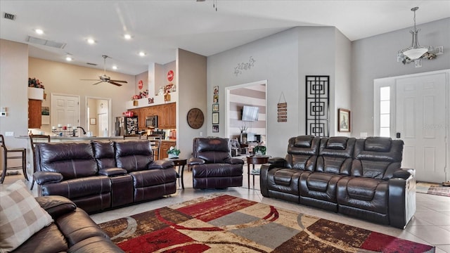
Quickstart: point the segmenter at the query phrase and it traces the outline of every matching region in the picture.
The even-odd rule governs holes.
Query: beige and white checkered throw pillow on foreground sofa
[[[53,222],[23,181],[0,191],[0,252],[11,252]]]

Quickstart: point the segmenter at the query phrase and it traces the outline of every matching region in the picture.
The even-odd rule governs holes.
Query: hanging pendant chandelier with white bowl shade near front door
[[[432,46],[420,46],[418,41],[418,32],[420,29],[416,28],[416,11],[418,7],[411,8],[411,11],[414,12],[414,29],[409,31],[412,34],[412,42],[411,46],[408,48],[401,49],[397,54],[397,61],[401,61],[401,63],[411,63],[414,61],[416,67],[421,67],[421,59],[432,60],[436,58],[435,50]],[[439,47],[442,53],[444,51],[443,47]]]

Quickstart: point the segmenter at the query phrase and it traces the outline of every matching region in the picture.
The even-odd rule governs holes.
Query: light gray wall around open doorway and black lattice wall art
[[[330,90],[334,93],[336,37],[339,37],[338,46],[343,45],[344,53],[349,51],[350,43],[348,40],[345,42],[342,34],[336,35],[336,31],[334,27],[295,27],[208,57],[207,94],[211,96],[207,96],[207,104],[212,104],[214,86],[219,86],[219,103],[223,105],[225,87],[268,80],[267,152],[272,156],[284,156],[288,139],[305,134],[305,76],[329,75]],[[250,57],[255,60],[254,65],[241,74],[235,74],[234,68],[239,63],[248,63]],[[349,56],[343,58],[347,62]],[[344,72],[345,67],[340,71],[340,80],[347,80],[349,72]],[[348,91],[348,88],[344,90]],[[281,93],[288,103],[288,122],[277,122],[277,103]],[[334,98],[330,103],[333,105],[330,112],[333,112]],[[208,134],[212,134],[211,116],[208,117]],[[221,112],[219,129],[224,129],[225,117],[226,113]],[[224,131],[219,136],[224,137]]]

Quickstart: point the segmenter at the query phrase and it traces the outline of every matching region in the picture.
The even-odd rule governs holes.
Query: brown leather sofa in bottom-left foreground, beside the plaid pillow
[[[32,235],[14,253],[123,252],[86,212],[66,197],[36,197],[54,222]]]

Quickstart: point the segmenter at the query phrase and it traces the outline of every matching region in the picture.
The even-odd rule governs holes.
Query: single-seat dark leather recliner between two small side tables
[[[229,138],[194,138],[188,164],[194,189],[242,186],[244,161],[231,157]]]

